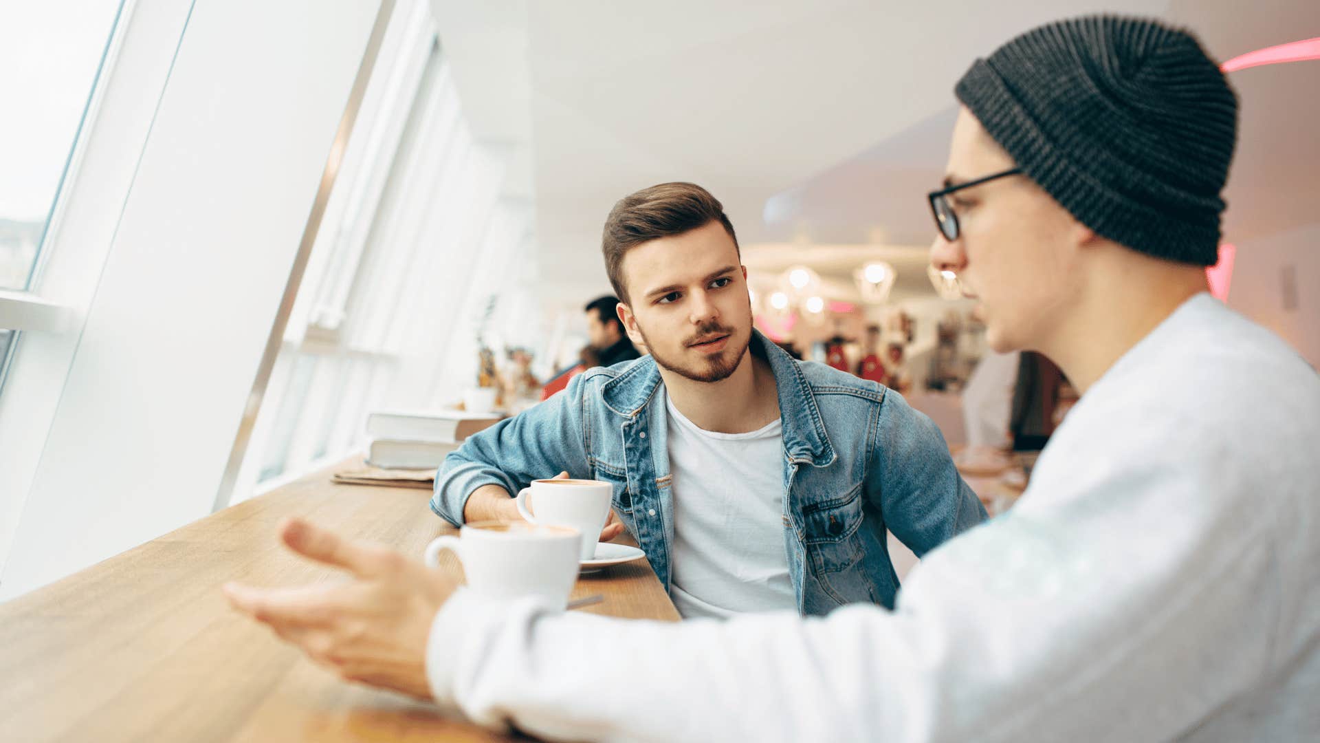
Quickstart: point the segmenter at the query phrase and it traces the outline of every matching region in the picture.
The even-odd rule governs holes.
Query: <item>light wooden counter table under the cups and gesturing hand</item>
[[[227,580],[341,578],[277,543],[285,516],[418,557],[453,531],[426,490],[334,485],[330,472],[0,604],[0,740],[508,740],[339,681],[228,608]],[[645,561],[582,576],[574,598],[593,594],[605,602],[581,611],[678,619]]]

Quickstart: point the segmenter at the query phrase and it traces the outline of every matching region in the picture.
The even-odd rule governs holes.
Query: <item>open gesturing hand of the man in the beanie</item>
[[[457,582],[395,550],[298,520],[282,522],[280,538],[309,559],[348,570],[352,579],[297,588],[227,583],[230,604],[348,681],[429,699],[426,639]]]

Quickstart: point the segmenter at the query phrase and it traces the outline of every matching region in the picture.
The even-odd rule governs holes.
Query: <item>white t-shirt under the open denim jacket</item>
[[[673,606],[684,617],[793,608],[779,419],[747,434],[715,434],[660,394],[669,411]]]

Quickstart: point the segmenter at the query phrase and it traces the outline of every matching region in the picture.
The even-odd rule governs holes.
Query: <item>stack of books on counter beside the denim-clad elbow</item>
[[[494,412],[379,411],[367,415],[367,464],[383,469],[430,469],[463,439],[500,420]]]

